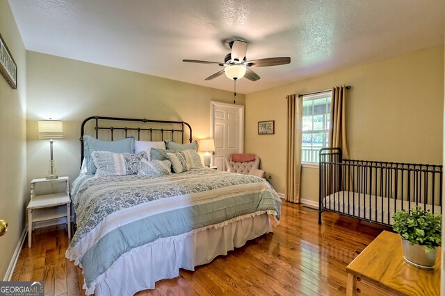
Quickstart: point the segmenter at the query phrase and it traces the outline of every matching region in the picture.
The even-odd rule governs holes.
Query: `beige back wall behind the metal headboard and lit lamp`
[[[74,180],[80,166],[80,125],[88,116],[183,120],[193,139],[210,136],[210,102],[234,94],[209,87],[27,52],[28,179],[48,171],[49,144],[38,140],[37,121],[63,120],[65,138],[54,143],[56,173]],[[230,82],[229,80],[227,82]],[[245,96],[236,96],[244,105]]]

